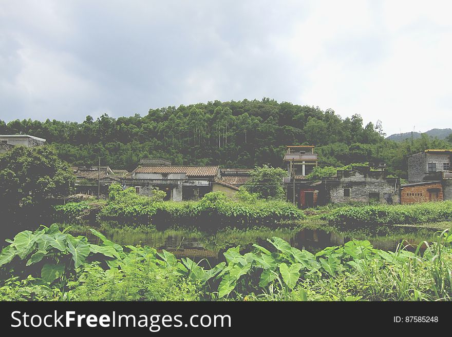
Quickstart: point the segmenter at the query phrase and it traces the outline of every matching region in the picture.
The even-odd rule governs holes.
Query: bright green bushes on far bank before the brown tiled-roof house
[[[160,192],[160,191],[156,191]],[[152,197],[138,195],[134,188],[122,190],[120,185],[110,186],[107,204],[100,210],[100,219],[125,219],[156,224],[216,225],[235,222],[279,222],[304,219],[302,210],[278,200],[257,199],[255,194],[242,191],[238,199],[230,199],[223,192],[211,192],[199,201],[161,201],[156,193]],[[82,202],[83,203],[83,202]],[[56,207],[60,215],[73,216],[73,210],[84,209],[85,204],[70,203]]]

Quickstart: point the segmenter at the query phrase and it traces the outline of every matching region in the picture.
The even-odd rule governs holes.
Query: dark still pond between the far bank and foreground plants
[[[48,224],[50,225],[50,223]],[[190,257],[196,262],[208,261],[211,265],[224,260],[223,252],[231,247],[240,245],[243,252],[251,251],[253,244],[258,244],[268,249],[273,246],[267,241],[273,236],[278,236],[286,240],[293,247],[306,249],[312,253],[318,252],[325,247],[343,245],[344,243],[356,240],[369,240],[378,249],[397,249],[398,245],[411,244],[408,249],[415,249],[420,242],[431,240],[434,237],[435,229],[428,228],[404,228],[379,226],[376,229],[356,229],[340,231],[328,227],[325,223],[304,223],[284,225],[279,228],[231,228],[200,231],[197,229],[174,228],[158,230],[152,226],[139,224],[124,225],[118,222],[83,223],[83,224],[58,224],[60,228],[71,226],[72,235],[84,235],[91,243],[98,243],[99,238],[93,235],[89,229],[95,228],[102,232],[109,240],[120,245],[147,245],[157,250],[165,249],[174,253],[177,257]],[[1,232],[0,240],[5,245],[5,239],[12,239],[21,230],[35,230],[37,226],[28,226],[20,229],[4,228]],[[207,262],[205,262],[207,263]]]

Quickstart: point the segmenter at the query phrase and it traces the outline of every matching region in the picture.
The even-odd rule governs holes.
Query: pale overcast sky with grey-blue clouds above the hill
[[[452,127],[452,2],[0,0],[0,119],[252,100]]]

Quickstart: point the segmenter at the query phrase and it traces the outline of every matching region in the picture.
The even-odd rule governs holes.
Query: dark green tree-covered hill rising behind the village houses
[[[452,143],[450,137],[450,143],[428,137],[396,143],[385,140],[380,123],[364,126],[358,114],[342,118],[269,98],[150,109],[142,117],[87,116],[83,123],[0,121],[0,134],[16,133],[46,138],[73,165],[96,164],[100,155],[103,165],[129,170],[147,157],[175,165],[281,166],[286,145],[309,144],[320,165],[383,161],[405,175],[404,154]]]

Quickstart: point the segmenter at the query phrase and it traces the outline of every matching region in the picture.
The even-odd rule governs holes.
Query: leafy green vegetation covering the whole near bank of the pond
[[[0,299],[452,299],[452,235],[447,231],[415,251],[404,247],[396,252],[383,251],[374,249],[368,241],[352,240],[315,255],[272,237],[268,240],[270,249],[256,244],[253,251],[244,254],[240,246],[228,249],[224,252],[225,261],[213,268],[203,268],[189,258],[177,260],[165,250],[122,247],[96,230],[91,232],[99,237],[98,245],[87,244],[86,237],[73,238],[59,232],[54,226],[17,234],[0,254],[0,267],[7,274],[0,287]],[[21,239],[24,235],[28,238],[25,241]],[[44,235],[65,237],[66,243],[56,240],[60,243],[49,241],[46,245]],[[76,247],[73,240],[77,240]],[[45,272],[44,268],[41,270],[41,275],[29,273],[21,266],[27,260],[27,265],[30,261],[32,264],[33,256],[49,265]],[[73,263],[62,265],[60,257],[64,260],[68,256]]]

